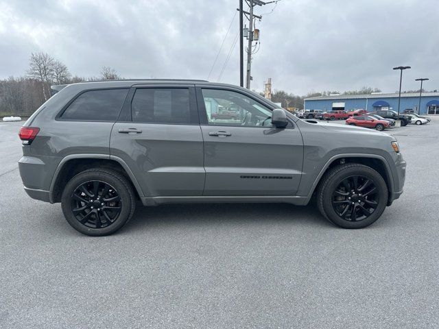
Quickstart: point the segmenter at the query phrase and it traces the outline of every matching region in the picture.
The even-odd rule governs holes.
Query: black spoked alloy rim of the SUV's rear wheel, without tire
[[[88,228],[106,228],[117,220],[122,201],[114,187],[91,180],[80,184],[71,197],[71,211]]]

